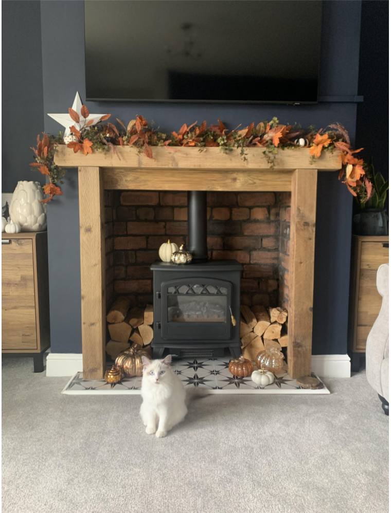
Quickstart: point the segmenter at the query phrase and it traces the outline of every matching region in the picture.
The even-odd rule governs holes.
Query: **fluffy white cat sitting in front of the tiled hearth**
[[[161,438],[185,418],[186,392],[180,378],[171,370],[171,355],[164,360],[143,356],[143,365],[140,416],[146,433],[156,433]]]

